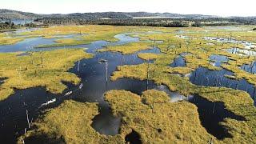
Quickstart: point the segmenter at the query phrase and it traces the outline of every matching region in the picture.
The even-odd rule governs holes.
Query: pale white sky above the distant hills
[[[0,9],[36,14],[86,12],[170,12],[218,16],[256,16],[256,0],[0,0]]]

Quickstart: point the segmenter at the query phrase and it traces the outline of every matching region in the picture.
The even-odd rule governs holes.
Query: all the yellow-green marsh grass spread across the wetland
[[[250,28],[250,27],[249,27]],[[221,70],[225,68],[234,72],[234,79],[245,78],[247,82],[256,86],[255,74],[250,74],[241,70],[239,66],[242,64],[254,62],[253,56],[239,56],[238,54],[230,54],[226,49],[230,47],[238,47],[244,49],[241,43],[230,42],[215,42],[204,39],[204,37],[217,38],[235,38],[240,41],[256,42],[255,32],[245,27],[244,30],[222,30],[215,27],[210,29],[202,28],[158,28],[158,27],[140,27],[140,26],[53,26],[33,32],[25,32],[21,35],[32,35],[30,37],[42,36],[43,38],[55,38],[56,35],[65,34],[81,34],[79,39],[76,38],[60,38],[57,43],[48,46],[73,46],[81,44],[89,44],[94,41],[117,42],[114,38],[116,34],[124,34],[128,32],[138,32],[138,34],[130,34],[138,37],[144,42],[132,42],[122,46],[107,46],[99,51],[113,51],[122,54],[133,54],[138,50],[151,49],[152,46],[157,46],[162,54],[138,54],[139,58],[144,60],[154,60],[154,63],[142,63],[134,66],[118,66],[117,70],[111,76],[111,80],[118,78],[136,78],[146,80],[149,78],[157,84],[168,86],[170,90],[178,91],[180,94],[198,94],[210,102],[223,102],[227,110],[234,112],[246,118],[244,122],[238,122],[234,119],[226,118],[221,124],[226,126],[233,138],[225,138],[222,141],[217,141],[212,135],[208,134],[201,126],[198,120],[196,107],[188,102],[170,103],[169,98],[163,92],[149,90],[139,97],[137,94],[132,94],[124,90],[113,90],[106,93],[106,100],[110,102],[111,109],[114,114],[122,115],[122,129],[116,137],[105,137],[95,132],[91,127],[91,115],[98,114],[95,106],[90,104],[81,104],[83,109],[92,109],[90,116],[77,114],[73,116],[71,111],[76,112],[81,107],[72,107],[75,102],[65,102],[56,110],[50,110],[44,120],[38,121],[38,131],[33,131],[29,134],[46,134],[50,138],[64,138],[65,142],[124,142],[124,137],[131,130],[137,131],[142,142],[193,142],[206,143],[210,138],[214,138],[216,143],[254,143],[256,141],[256,110],[254,102],[250,95],[241,90],[232,90],[224,87],[206,87],[195,86],[188,78],[183,78],[177,74],[189,74],[198,67],[205,67],[209,70]],[[162,33],[148,33],[147,31],[162,31]],[[140,33],[141,34],[140,34]],[[187,38],[178,38],[177,35],[188,36]],[[10,37],[0,34],[1,44],[14,44],[22,41],[22,39]],[[158,42],[158,41],[162,41]],[[170,63],[174,58],[182,53],[187,53],[183,56],[186,59],[184,67],[170,67]],[[209,57],[212,54],[225,55],[230,60],[222,67],[212,66]],[[0,86],[0,99],[7,98],[14,93],[14,88],[26,89],[33,86],[46,86],[47,90],[53,93],[60,93],[66,88],[62,81],[73,82],[78,84],[79,78],[75,74],[66,72],[70,67],[74,66],[74,62],[81,58],[90,58],[90,54],[84,53],[82,50],[54,50],[49,52],[34,53],[31,56],[16,57],[16,54],[0,54],[0,77],[7,78]],[[43,58],[43,62],[41,62]],[[32,64],[32,60],[34,63]],[[149,72],[149,74],[147,74]],[[229,77],[231,78],[231,77]],[[156,96],[156,102],[162,102],[161,105],[154,106],[152,112],[152,97]],[[63,108],[71,106],[69,109]],[[80,104],[79,104],[80,105]],[[62,112],[62,109],[63,112]],[[139,109],[142,109],[140,111]],[[145,111],[143,111],[145,109]],[[60,112],[61,111],[61,112]],[[60,113],[60,118],[56,122],[52,122],[56,115]],[[65,113],[67,115],[65,115]],[[86,119],[83,119],[85,116]],[[74,118],[75,117],[75,118]],[[70,122],[70,118],[74,122]],[[81,120],[86,122],[82,125]],[[63,121],[67,121],[67,125],[62,126]],[[78,122],[78,123],[76,123]],[[43,124],[41,124],[43,123]],[[54,125],[52,127],[52,125]],[[87,126],[88,125],[88,126]],[[83,127],[84,126],[84,127]],[[162,133],[158,132],[158,128]],[[77,130],[77,131],[76,131]],[[86,132],[92,135],[81,135]],[[27,135],[30,137],[31,135]],[[74,135],[74,139],[71,138]],[[92,139],[95,139],[94,141]],[[102,141],[102,138],[104,139]],[[113,138],[113,139],[112,139]],[[72,141],[74,140],[74,141]],[[113,141],[112,141],[113,140]]]

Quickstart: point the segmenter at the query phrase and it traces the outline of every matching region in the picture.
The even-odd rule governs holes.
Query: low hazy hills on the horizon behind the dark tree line
[[[213,18],[215,16],[202,14],[171,14],[171,13],[147,13],[147,12],[102,12],[102,13],[74,13],[74,14],[33,14],[16,10],[0,9],[0,19],[2,20],[21,20],[36,18],[81,18],[95,20],[99,18]]]

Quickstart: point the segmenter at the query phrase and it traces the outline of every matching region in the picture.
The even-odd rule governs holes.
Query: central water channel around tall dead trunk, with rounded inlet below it
[[[142,50],[140,52],[156,53],[158,49]],[[107,60],[106,63],[99,63],[100,59]],[[110,74],[116,70],[116,66],[121,65],[137,65],[143,61],[137,57],[137,54],[122,55],[120,53],[97,53],[94,58],[85,59],[77,62],[70,72],[77,74],[82,78],[84,88],[82,94],[74,97],[79,102],[98,102],[99,112],[93,121],[92,126],[101,134],[114,135],[118,133],[120,118],[115,118],[110,113],[110,107],[103,99],[103,94],[108,90],[130,90],[135,94],[142,94],[147,89],[146,81],[138,81],[134,79],[123,78],[118,81],[110,81]],[[78,69],[78,63],[80,68]],[[78,71],[79,70],[79,71]],[[107,76],[107,77],[106,77]],[[107,79],[106,79],[107,78]],[[148,89],[152,89],[153,82],[149,82]]]

